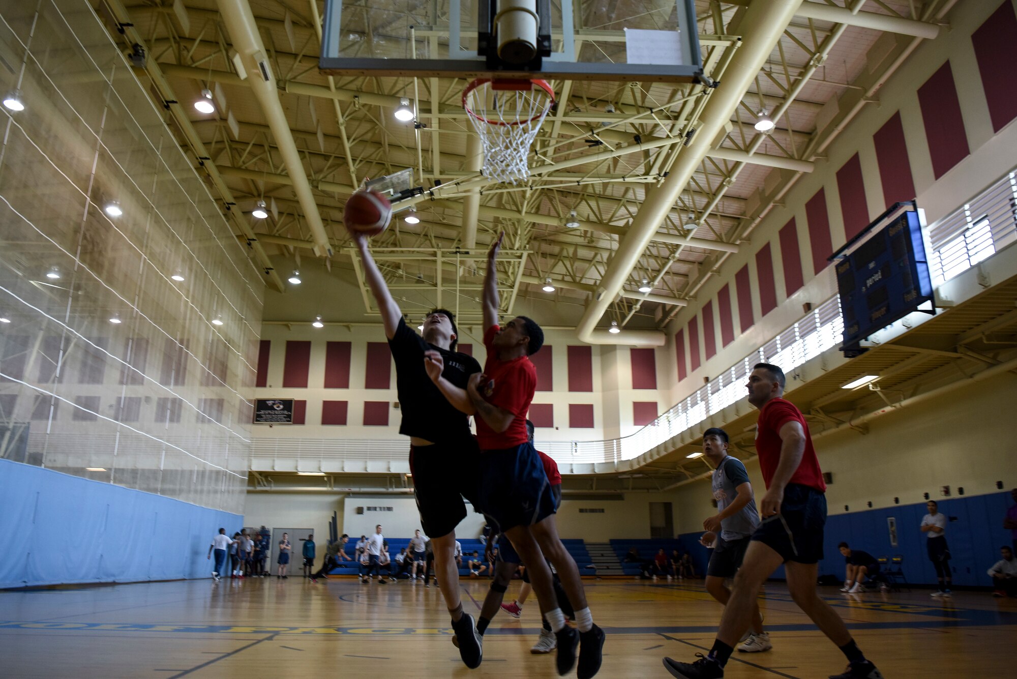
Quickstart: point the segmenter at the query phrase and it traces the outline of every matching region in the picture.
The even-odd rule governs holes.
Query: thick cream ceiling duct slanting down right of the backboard
[[[647,195],[629,233],[618,244],[617,252],[604,271],[600,289],[577,326],[577,333],[583,342],[632,344],[625,342],[625,337],[622,336],[627,334],[626,331],[612,334],[606,329],[596,329],[596,325],[622,290],[650,239],[660,229],[671,206],[700,163],[706,158],[710,145],[741,103],[741,98],[753,84],[760,69],[766,65],[774,47],[800,5],[801,0],[769,0],[765,3],[754,2],[745,10],[741,21],[741,47],[734,52],[730,63],[724,69],[724,86],[717,87],[708,96],[699,115],[694,113],[691,116],[692,120],[700,121],[696,135],[692,137],[691,143],[681,149],[664,182]],[[663,332],[659,332],[656,337],[647,336],[644,340],[645,342],[640,344],[662,346],[666,336]]]

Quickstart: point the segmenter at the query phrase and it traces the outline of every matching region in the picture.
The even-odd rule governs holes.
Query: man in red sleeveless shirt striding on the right
[[[757,363],[749,375],[749,403],[760,411],[756,452],[767,487],[760,503],[763,523],[753,535],[735,575],[710,655],[695,663],[665,658],[664,667],[675,677],[724,676],[724,665],[749,627],[757,593],[783,563],[794,603],[847,657],[847,670],[830,679],[883,679],[858,650],[844,621],[816,591],[817,564],[823,558],[826,484],[804,416],[781,397],[785,383],[784,371],[769,363]]]

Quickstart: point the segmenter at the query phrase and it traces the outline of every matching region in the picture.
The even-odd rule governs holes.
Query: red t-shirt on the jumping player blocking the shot
[[[533,394],[537,390],[537,368],[530,359],[521,356],[512,361],[498,360],[493,347],[494,334],[501,328],[491,325],[484,330],[484,347],[487,348],[487,362],[484,374],[487,381],[480,385],[480,395],[491,406],[508,411],[516,416],[508,428],[498,434],[477,414],[477,441],[481,450],[513,448],[530,440],[526,430],[526,414],[530,411]]]

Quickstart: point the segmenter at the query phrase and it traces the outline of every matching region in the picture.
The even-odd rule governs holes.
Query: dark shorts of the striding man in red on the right
[[[800,484],[784,490],[780,513],[763,519],[753,540],[780,554],[784,561],[818,563],[823,558],[826,494]]]

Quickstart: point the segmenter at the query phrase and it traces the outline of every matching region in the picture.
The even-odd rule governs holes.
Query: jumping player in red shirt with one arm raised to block
[[[601,664],[604,632],[593,624],[579,568],[561,544],[554,522],[554,499],[547,474],[530,442],[526,415],[537,388],[537,370],[528,358],[539,351],[544,333],[532,319],[517,316],[502,328],[498,325],[497,253],[504,233],[487,253],[484,279],[484,346],[487,361],[483,373],[470,377],[467,396],[476,414],[480,443],[480,509],[493,519],[528,564],[530,580],[540,609],[554,630],[557,643],[557,671],[567,674],[579,654],[579,679],[597,674]],[[448,402],[462,403],[462,389],[428,369]],[[554,596],[551,569],[546,556],[558,571],[569,601],[576,608],[579,633],[565,624],[565,616]]]

